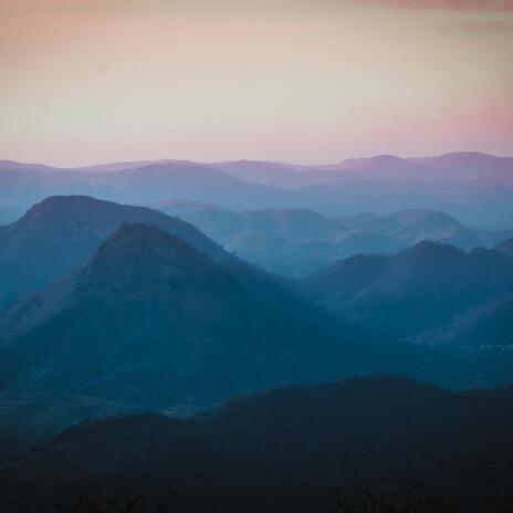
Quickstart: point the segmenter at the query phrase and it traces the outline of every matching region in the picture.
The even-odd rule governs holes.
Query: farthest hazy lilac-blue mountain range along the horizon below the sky
[[[69,169],[0,161],[0,206],[19,211],[48,196],[88,195],[125,203],[182,199],[234,210],[306,208],[331,217],[423,208],[465,223],[511,227],[512,163],[478,153],[328,166],[164,159]]]

